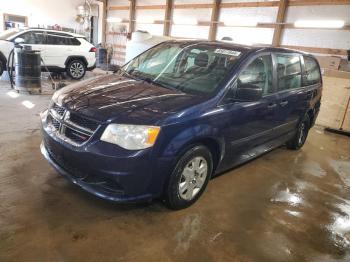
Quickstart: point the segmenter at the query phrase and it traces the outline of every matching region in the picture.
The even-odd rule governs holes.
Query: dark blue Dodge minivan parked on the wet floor
[[[98,197],[181,209],[216,174],[284,144],[301,148],[321,92],[309,54],[168,41],[57,91],[41,114],[41,152]]]

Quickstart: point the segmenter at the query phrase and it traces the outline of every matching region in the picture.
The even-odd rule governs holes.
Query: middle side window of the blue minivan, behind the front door
[[[301,87],[300,55],[277,54],[278,90]]]

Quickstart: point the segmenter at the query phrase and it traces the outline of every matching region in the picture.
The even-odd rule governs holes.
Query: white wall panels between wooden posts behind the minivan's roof
[[[137,5],[165,5],[165,0],[137,0]],[[222,0],[223,3],[233,2],[267,2],[273,0]],[[211,4],[213,0],[174,0],[174,4]],[[128,0],[109,0],[109,5],[127,6]],[[217,40],[223,37],[231,37],[233,42],[239,44],[272,44],[273,28],[253,28],[232,26],[235,21],[254,21],[257,23],[275,23],[278,7],[243,7],[221,8],[219,21],[232,22],[231,26],[218,26]],[[128,20],[129,11],[109,11],[109,15]],[[136,10],[136,30],[145,30],[153,35],[163,34],[162,24],[142,23],[142,20],[163,20],[164,9]],[[174,9],[171,36],[182,38],[207,39],[209,26],[184,25],[176,22],[197,20],[210,22],[210,8]],[[293,24],[297,20],[344,20],[350,24],[350,5],[335,6],[290,6],[286,11],[286,23]],[[114,25],[117,26],[117,25]],[[111,38],[109,38],[111,39]],[[112,40],[112,39],[111,39]],[[334,49],[350,49],[350,30],[325,30],[325,29],[285,29],[283,30],[282,45],[306,46]]]

